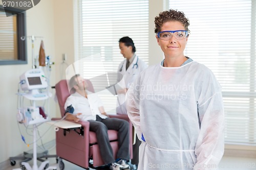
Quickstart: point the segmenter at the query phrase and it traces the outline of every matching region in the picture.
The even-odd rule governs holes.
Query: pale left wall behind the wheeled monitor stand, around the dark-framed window
[[[52,56],[52,61],[55,60],[55,49],[54,49],[54,9],[52,0],[41,1],[37,6],[31,8],[26,12],[27,19],[27,35],[31,36],[42,36],[44,37],[44,44],[46,55]],[[39,54],[40,39],[35,41],[35,55]],[[28,53],[28,64],[24,65],[0,65],[0,108],[1,108],[1,119],[0,119],[0,129],[1,129],[1,152],[0,152],[0,162],[8,160],[10,156],[16,156],[23,153],[23,151],[31,150],[32,144],[28,148],[22,141],[16,120],[17,112],[17,92],[19,76],[23,74],[28,69],[32,68],[32,58],[31,58],[31,39],[27,40],[27,53]],[[55,80],[55,66],[52,66],[51,73],[51,84]],[[50,115],[55,116],[55,103],[53,98],[50,99]],[[49,126],[42,125],[39,127],[41,130],[41,135]],[[20,130],[26,138],[28,143],[32,142],[31,136],[25,132],[25,128],[20,124]],[[31,130],[28,130],[31,134]],[[54,139],[53,129],[50,129],[44,137],[42,137],[43,142],[48,142]]]

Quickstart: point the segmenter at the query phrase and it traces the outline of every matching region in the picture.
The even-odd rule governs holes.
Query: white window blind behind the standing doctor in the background
[[[148,0],[82,0],[75,1],[75,60],[87,70],[87,77],[95,78],[103,72],[117,72],[124,60],[119,50],[119,39],[129,36],[136,46],[136,54],[148,63]],[[100,55],[99,60],[94,55]],[[92,79],[95,80],[95,79]],[[103,79],[102,79],[103,80]],[[103,82],[93,81],[100,91]],[[99,93],[104,108],[115,113],[116,96]],[[114,107],[113,107],[114,106]]]

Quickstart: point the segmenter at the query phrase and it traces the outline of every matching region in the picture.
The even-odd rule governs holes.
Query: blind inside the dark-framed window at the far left
[[[0,11],[0,60],[17,59],[16,16]]]

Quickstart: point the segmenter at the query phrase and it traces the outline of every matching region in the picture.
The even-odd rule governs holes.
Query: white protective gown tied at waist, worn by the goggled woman
[[[206,66],[151,66],[126,98],[128,116],[145,139],[139,170],[217,169],[224,153],[224,109],[221,86]]]

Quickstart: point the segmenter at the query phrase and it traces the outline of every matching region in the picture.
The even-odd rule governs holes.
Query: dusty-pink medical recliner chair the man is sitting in
[[[93,85],[90,80],[86,80],[88,84],[87,90],[94,92]],[[67,81],[60,80],[55,85],[56,96],[58,99],[58,104],[60,108],[61,116],[65,113],[65,102],[70,95]],[[110,117],[117,117],[125,119],[130,125],[130,158],[133,158],[133,135],[132,135],[132,123],[130,122],[127,115],[110,115]],[[53,118],[56,120],[58,118]],[[60,158],[60,169],[64,169],[64,164],[61,159],[72,162],[83,168],[89,168],[89,166],[97,167],[104,165],[99,152],[99,146],[97,144],[96,134],[89,131],[90,123],[88,121],[79,121],[81,128],[75,129],[59,129],[56,132],[56,154]],[[109,139],[111,147],[113,149],[114,158],[118,151],[118,141],[117,141],[117,131],[109,130]],[[93,160],[93,161],[90,161]],[[89,163],[93,162],[93,163]]]

